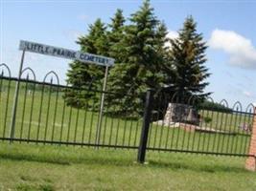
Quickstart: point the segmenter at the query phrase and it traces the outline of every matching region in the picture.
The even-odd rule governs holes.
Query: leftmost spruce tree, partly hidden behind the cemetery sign
[[[101,19],[97,19],[94,24],[89,25],[88,34],[79,37],[77,43],[81,46],[81,52],[107,56],[106,27]],[[67,72],[67,82],[75,89],[70,89],[65,94],[66,103],[74,107],[84,107],[87,99],[92,97],[93,93],[82,91],[82,89],[99,88],[98,86],[102,84],[104,71],[105,68],[101,66],[85,64],[80,61],[72,62]],[[76,89],[80,89],[80,91]]]

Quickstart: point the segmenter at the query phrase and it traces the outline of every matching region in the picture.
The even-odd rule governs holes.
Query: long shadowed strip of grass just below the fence
[[[103,153],[101,153],[103,152]],[[1,152],[0,159],[8,159],[13,161],[33,161],[33,162],[44,162],[49,164],[58,164],[58,165],[72,165],[72,164],[84,164],[84,165],[108,165],[108,166],[136,166],[140,168],[163,168],[170,170],[190,170],[195,172],[206,172],[206,173],[217,173],[217,172],[226,172],[226,173],[247,173],[244,167],[239,165],[228,164],[228,162],[214,162],[212,165],[207,162],[207,159],[200,159],[198,156],[195,156],[193,162],[190,162],[184,154],[184,159],[170,158],[169,160],[163,161],[156,159],[149,159],[149,165],[142,165],[134,162],[136,152],[125,152],[120,151],[121,155],[118,152],[105,152],[105,151],[88,151],[87,155],[74,155],[68,154],[66,152],[64,155],[58,153],[26,153],[26,152]],[[124,155],[123,155],[124,154]],[[173,156],[174,157],[174,156]],[[204,162],[200,162],[200,161]]]

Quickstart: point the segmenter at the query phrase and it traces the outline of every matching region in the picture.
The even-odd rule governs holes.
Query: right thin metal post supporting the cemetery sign
[[[101,138],[101,130],[102,130],[102,121],[103,121],[103,113],[104,113],[104,103],[105,103],[105,88],[106,88],[106,81],[107,81],[107,74],[108,74],[108,66],[105,66],[105,78],[104,78],[104,87],[101,97],[101,107],[100,107],[100,116],[97,125],[97,135],[96,135],[96,144],[100,144]]]

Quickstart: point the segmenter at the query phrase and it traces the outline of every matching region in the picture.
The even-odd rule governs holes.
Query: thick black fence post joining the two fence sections
[[[152,90],[150,89],[147,91],[146,104],[143,116],[143,125],[141,129],[140,145],[138,149],[137,161],[140,163],[144,163],[146,156],[148,136],[151,125],[152,96]]]

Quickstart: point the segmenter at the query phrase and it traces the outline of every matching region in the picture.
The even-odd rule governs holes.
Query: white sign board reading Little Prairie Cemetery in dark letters
[[[81,53],[68,49],[62,49],[58,47],[43,45],[35,42],[29,42],[21,40],[19,44],[19,50],[31,52],[31,53],[41,53],[46,55],[52,55],[72,60],[79,60],[83,63],[93,63],[102,66],[111,66],[114,64],[114,59],[105,57],[102,55],[96,55],[92,53]]]

